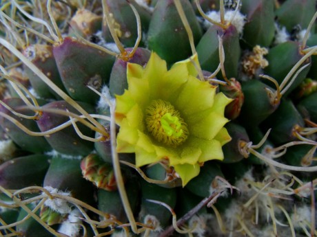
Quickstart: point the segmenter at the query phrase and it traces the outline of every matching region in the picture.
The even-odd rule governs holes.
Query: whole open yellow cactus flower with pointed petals
[[[232,100],[197,76],[198,58],[170,70],[151,54],[145,68],[127,65],[128,89],[116,95],[119,153],[136,153],[136,166],[167,159],[183,186],[199,174],[205,161],[223,159],[221,146],[231,140],[223,127]]]

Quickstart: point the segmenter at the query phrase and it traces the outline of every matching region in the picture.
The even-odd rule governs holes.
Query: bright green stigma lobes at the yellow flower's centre
[[[172,116],[171,113],[165,113],[165,115],[161,117],[161,126],[169,137],[181,137],[183,134],[181,122],[179,122],[178,117]]]

